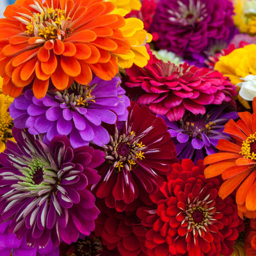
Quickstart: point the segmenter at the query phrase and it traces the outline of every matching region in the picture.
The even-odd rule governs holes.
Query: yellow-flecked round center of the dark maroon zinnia
[[[110,143],[104,148],[106,159],[113,164],[116,172],[122,172],[124,168],[131,172],[132,166],[145,158],[143,150],[146,147],[139,141],[140,138],[136,138],[134,131],[120,135],[117,128],[115,136],[110,136]]]

